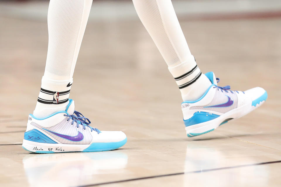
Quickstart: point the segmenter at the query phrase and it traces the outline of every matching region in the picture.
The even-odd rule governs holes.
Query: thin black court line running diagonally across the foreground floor
[[[113,184],[113,183],[121,183],[121,182],[128,182],[128,181],[138,181],[138,180],[144,180],[144,179],[159,178],[159,177],[165,177],[165,176],[175,176],[175,175],[183,175],[183,174],[191,174],[191,173],[204,173],[204,172],[212,172],[212,171],[223,170],[223,169],[250,167],[250,166],[275,164],[275,163],[281,163],[281,160],[272,161],[272,162],[259,162],[259,163],[255,163],[255,164],[245,164],[245,165],[238,165],[238,166],[219,167],[219,168],[213,168],[213,169],[203,169],[203,170],[196,170],[196,171],[191,171],[191,172],[180,172],[180,173],[171,173],[171,174],[163,174],[163,175],[154,175],[154,176],[139,177],[139,178],[134,178],[134,179],[125,179],[125,180],[119,180],[119,181],[110,181],[110,182],[103,182],[103,183],[96,183],[96,184],[88,184],[88,185],[82,185],[82,186],[78,186],[78,187],[98,186],[98,185],[105,185],[105,184]]]

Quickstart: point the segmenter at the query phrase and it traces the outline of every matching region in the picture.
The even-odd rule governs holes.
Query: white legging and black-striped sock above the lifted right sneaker
[[[175,78],[183,100],[200,98],[211,82],[189,51],[171,0],[133,0],[133,4]]]

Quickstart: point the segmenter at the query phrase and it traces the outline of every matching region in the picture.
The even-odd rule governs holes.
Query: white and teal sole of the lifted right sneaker
[[[229,112],[226,112],[213,120],[185,127],[186,135],[188,137],[194,137],[211,132],[220,125],[227,123],[229,120],[237,119],[255,110],[256,108],[260,107],[266,99],[267,92],[265,91],[262,96],[252,101],[252,103],[230,110]]]

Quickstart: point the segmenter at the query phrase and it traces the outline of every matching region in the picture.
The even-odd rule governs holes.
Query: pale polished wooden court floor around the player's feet
[[[32,154],[21,147],[40,89],[47,22],[0,17],[0,186],[281,186],[281,19],[180,19],[202,72],[261,86],[257,110],[188,138],[181,96],[139,20],[88,22],[70,98],[118,150]]]

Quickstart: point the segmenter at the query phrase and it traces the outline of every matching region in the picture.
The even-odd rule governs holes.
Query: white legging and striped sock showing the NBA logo
[[[66,110],[73,72],[91,6],[92,0],[50,1],[47,61],[33,112],[38,118]]]

